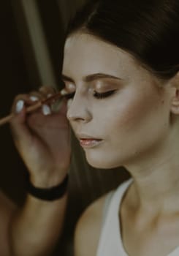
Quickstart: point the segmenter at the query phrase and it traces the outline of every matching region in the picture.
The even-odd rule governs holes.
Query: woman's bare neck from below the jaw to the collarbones
[[[174,143],[176,145],[176,142]],[[178,142],[179,145],[179,142]],[[170,153],[169,153],[170,152]],[[132,203],[137,208],[168,214],[179,211],[179,148],[162,147],[137,165],[127,167],[134,178]]]

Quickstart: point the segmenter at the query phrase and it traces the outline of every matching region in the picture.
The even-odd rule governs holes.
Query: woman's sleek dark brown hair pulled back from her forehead
[[[90,0],[66,37],[78,30],[123,48],[161,78],[179,70],[178,0]]]

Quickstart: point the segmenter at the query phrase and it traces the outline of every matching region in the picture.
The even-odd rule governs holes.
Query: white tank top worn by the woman
[[[104,222],[96,256],[129,256],[123,247],[118,216],[121,200],[131,183],[132,178],[107,195],[104,204]],[[179,256],[179,246],[167,256]]]

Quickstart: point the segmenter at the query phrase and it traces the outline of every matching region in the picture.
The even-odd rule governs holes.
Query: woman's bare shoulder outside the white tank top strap
[[[107,194],[85,209],[75,229],[75,256],[96,256]]]

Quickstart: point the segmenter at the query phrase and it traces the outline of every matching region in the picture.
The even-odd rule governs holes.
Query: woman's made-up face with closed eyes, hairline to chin
[[[159,150],[170,119],[167,89],[129,53],[88,34],[73,34],[64,48],[67,118],[88,163],[134,164]]]

